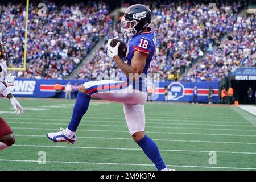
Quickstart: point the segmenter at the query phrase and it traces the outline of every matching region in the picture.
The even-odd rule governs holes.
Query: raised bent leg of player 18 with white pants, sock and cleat
[[[129,93],[130,92],[130,93]],[[85,82],[80,86],[77,100],[73,108],[72,118],[68,127],[59,132],[48,133],[47,137],[53,142],[76,142],[76,130],[79,123],[88,110],[90,98],[100,98],[116,102],[144,102],[147,93],[134,93],[133,86],[128,86],[124,81],[100,80]]]

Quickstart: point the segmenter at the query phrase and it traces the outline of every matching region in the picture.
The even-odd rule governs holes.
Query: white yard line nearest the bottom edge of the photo
[[[5,162],[33,162],[38,163],[38,160],[11,160],[0,159]],[[93,163],[93,162],[65,162],[65,161],[47,161],[47,163],[64,163],[64,164],[100,164],[100,165],[116,165],[116,166],[154,166],[153,164],[132,164],[132,163]],[[188,167],[188,168],[219,168],[219,169],[247,169],[256,170],[256,168],[243,167],[211,167],[211,166],[180,166],[180,165],[166,165],[167,167]]]

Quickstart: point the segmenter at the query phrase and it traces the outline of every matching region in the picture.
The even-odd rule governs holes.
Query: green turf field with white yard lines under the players
[[[53,143],[46,134],[67,127],[74,100],[20,100],[13,114],[0,100],[0,116],[14,130],[14,146],[0,151],[0,170],[155,170],[131,139],[122,104],[92,101],[77,142]],[[256,170],[256,118],[228,106],[146,104],[146,132],[176,170]],[[250,118],[250,119],[247,119]],[[46,164],[39,164],[39,151]],[[217,164],[209,164],[216,151]]]

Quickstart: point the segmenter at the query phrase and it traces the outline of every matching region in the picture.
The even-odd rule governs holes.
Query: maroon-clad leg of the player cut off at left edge
[[[15,143],[13,130],[7,125],[5,120],[0,118],[0,150],[12,146]]]

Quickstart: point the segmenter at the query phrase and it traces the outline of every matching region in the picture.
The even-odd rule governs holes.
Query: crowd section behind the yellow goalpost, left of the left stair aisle
[[[56,5],[47,3],[46,15],[30,3],[25,78],[65,78],[113,25],[103,2]],[[39,16],[40,15],[40,16]],[[26,6],[1,6],[1,40],[10,52],[9,67],[23,67]]]

